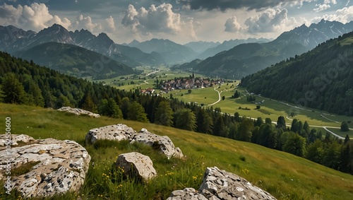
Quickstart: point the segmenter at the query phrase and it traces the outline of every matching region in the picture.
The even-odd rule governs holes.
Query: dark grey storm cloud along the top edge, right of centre
[[[213,10],[247,8],[248,10],[261,10],[272,8],[280,4],[300,3],[306,0],[179,0],[181,4],[190,6],[191,10]]]

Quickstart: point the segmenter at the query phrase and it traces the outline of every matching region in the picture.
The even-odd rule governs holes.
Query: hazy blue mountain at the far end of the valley
[[[177,64],[191,61],[196,57],[196,52],[191,48],[179,45],[170,40],[152,39],[145,42],[131,42],[131,47],[137,47],[143,52],[157,52],[161,54],[167,64]]]

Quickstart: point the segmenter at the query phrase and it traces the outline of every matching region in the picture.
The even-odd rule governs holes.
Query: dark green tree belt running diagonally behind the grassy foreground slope
[[[324,46],[325,44],[321,45]],[[276,125],[271,119],[257,120],[222,114],[219,107],[200,107],[175,98],[141,95],[66,76],[10,54],[0,52],[0,101],[18,105],[59,108],[80,107],[114,118],[150,122],[286,151],[335,170],[353,174],[353,143],[311,129],[294,119]]]

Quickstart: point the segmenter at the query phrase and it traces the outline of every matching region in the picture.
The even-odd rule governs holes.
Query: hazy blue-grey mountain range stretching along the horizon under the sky
[[[120,63],[118,65],[124,65],[124,67],[178,64],[174,66],[174,69],[193,69],[193,71],[208,76],[241,78],[284,59],[303,54],[325,40],[349,33],[352,30],[353,21],[343,24],[337,21],[321,20],[309,27],[301,25],[282,33],[273,41],[263,38],[249,38],[247,40],[229,40],[222,42],[222,44],[200,41],[179,45],[170,40],[152,39],[145,42],[133,40],[129,44],[119,45],[105,33],[96,36],[88,30],[68,31],[57,24],[45,28],[39,33],[8,25],[0,26],[0,50],[25,59],[36,60],[39,64],[47,64],[48,62],[58,63],[59,60],[56,59],[59,58],[59,52],[73,48],[72,46],[66,47],[66,45],[75,45],[83,47],[87,51],[101,54],[102,58],[107,57],[118,61]],[[33,47],[47,42],[64,44],[56,45],[57,48],[62,49],[56,51],[58,55],[53,55],[52,60],[44,61],[42,58],[37,58],[39,53],[30,52]],[[53,46],[54,44],[51,45],[51,47]],[[44,47],[44,49],[46,48]],[[80,49],[79,52],[82,50]],[[52,51],[54,54],[56,52]],[[86,56],[91,55],[91,52]],[[44,53],[42,52],[42,54]],[[80,57],[83,56],[85,54],[80,54]],[[66,66],[61,66],[61,68],[63,67],[66,68]],[[110,69],[111,66],[107,67]]]

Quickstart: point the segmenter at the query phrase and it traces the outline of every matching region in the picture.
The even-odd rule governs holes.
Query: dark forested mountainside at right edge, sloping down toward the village
[[[246,76],[249,92],[353,116],[353,32]]]

